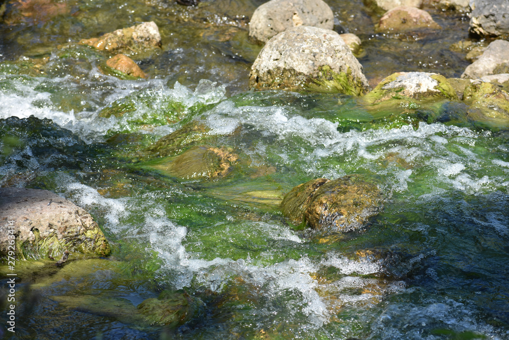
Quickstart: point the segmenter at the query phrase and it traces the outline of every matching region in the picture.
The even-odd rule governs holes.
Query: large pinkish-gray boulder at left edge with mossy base
[[[9,221],[13,221],[9,228]],[[66,250],[107,256],[110,246],[89,213],[47,190],[0,188],[0,253],[15,236],[18,258],[60,259]],[[13,230],[12,232],[10,230]]]

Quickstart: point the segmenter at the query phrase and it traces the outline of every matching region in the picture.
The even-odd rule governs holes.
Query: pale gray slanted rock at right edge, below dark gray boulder
[[[509,42],[495,40],[488,45],[484,53],[472,64],[468,65],[462,78],[478,79],[485,75],[508,73]]]

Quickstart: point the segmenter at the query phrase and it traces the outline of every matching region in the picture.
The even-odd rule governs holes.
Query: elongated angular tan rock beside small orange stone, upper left
[[[99,38],[82,39],[80,44],[107,51],[139,51],[161,46],[161,35],[154,21],[106,33]]]

